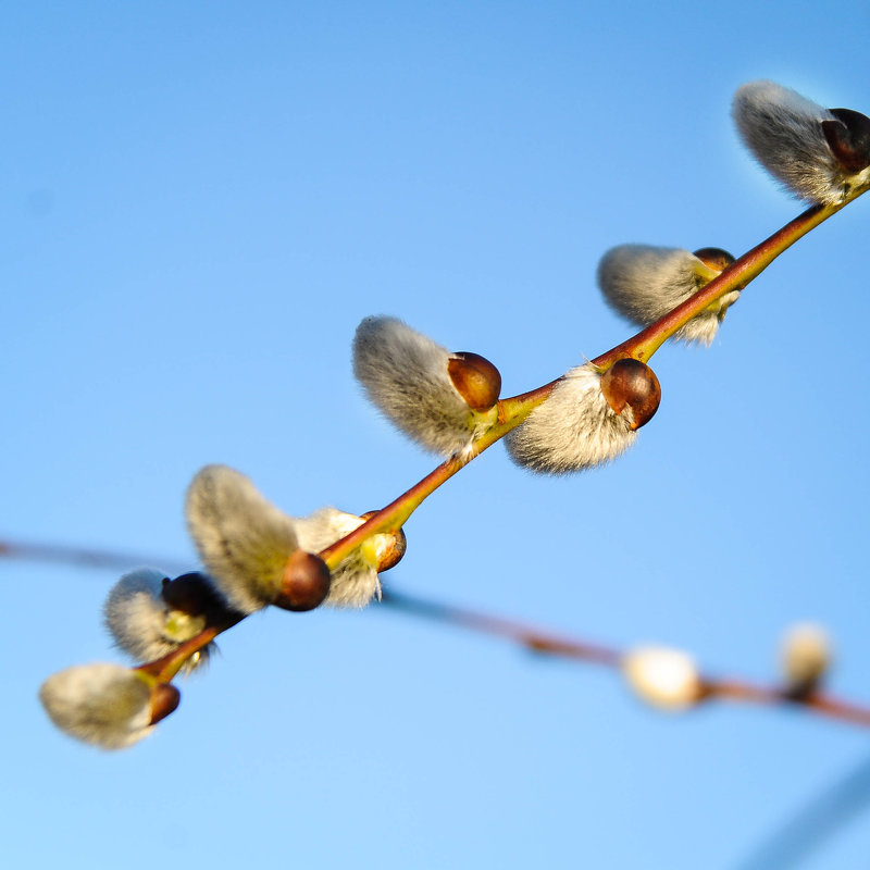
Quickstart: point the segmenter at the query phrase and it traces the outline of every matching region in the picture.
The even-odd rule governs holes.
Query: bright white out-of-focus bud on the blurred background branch
[[[695,662],[680,649],[633,649],[622,659],[622,673],[639,698],[662,710],[685,710],[704,695]]]

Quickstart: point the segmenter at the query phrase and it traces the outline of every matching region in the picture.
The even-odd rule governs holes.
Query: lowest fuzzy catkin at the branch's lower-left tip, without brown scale
[[[151,687],[121,664],[59,671],[42,683],[39,700],[61,731],[103,749],[124,749],[153,731]]]

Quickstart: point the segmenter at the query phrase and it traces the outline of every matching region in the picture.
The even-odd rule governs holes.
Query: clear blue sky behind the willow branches
[[[0,533],[192,567],[207,462],[297,515],[385,504],[434,462],[352,380],[364,315],[484,353],[507,395],[596,356],[631,334],[607,248],[742,253],[800,210],[737,142],[734,89],[870,111],[869,37],[866,3],[5,3]],[[831,688],[870,699],[869,215],[774,263],[709,351],[666,347],[630,455],[544,478],[495,447],[385,581],[758,680],[813,619]],[[101,754],[36,691],[117,660],[113,575],[0,576],[9,867],[728,870],[867,759],[855,728],[662,717],[378,608],[246,621],[152,738]],[[867,866],[869,818],[801,866]]]

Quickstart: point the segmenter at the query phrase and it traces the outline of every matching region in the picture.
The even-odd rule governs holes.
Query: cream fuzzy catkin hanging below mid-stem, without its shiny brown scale
[[[634,444],[627,406],[618,414],[601,393],[601,373],[587,362],[572,369],[505,438],[510,458],[523,468],[564,474],[610,462]]]

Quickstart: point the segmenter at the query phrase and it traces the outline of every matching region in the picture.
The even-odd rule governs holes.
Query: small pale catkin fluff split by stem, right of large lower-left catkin
[[[365,521],[355,513],[345,513],[336,508],[321,508],[310,517],[295,521],[299,546],[309,552],[319,552],[331,544],[349,535]],[[323,604],[326,607],[365,607],[375,596],[381,597],[381,580],[377,576],[378,538],[374,535],[361,547],[344,558],[330,573],[330,594]]]

